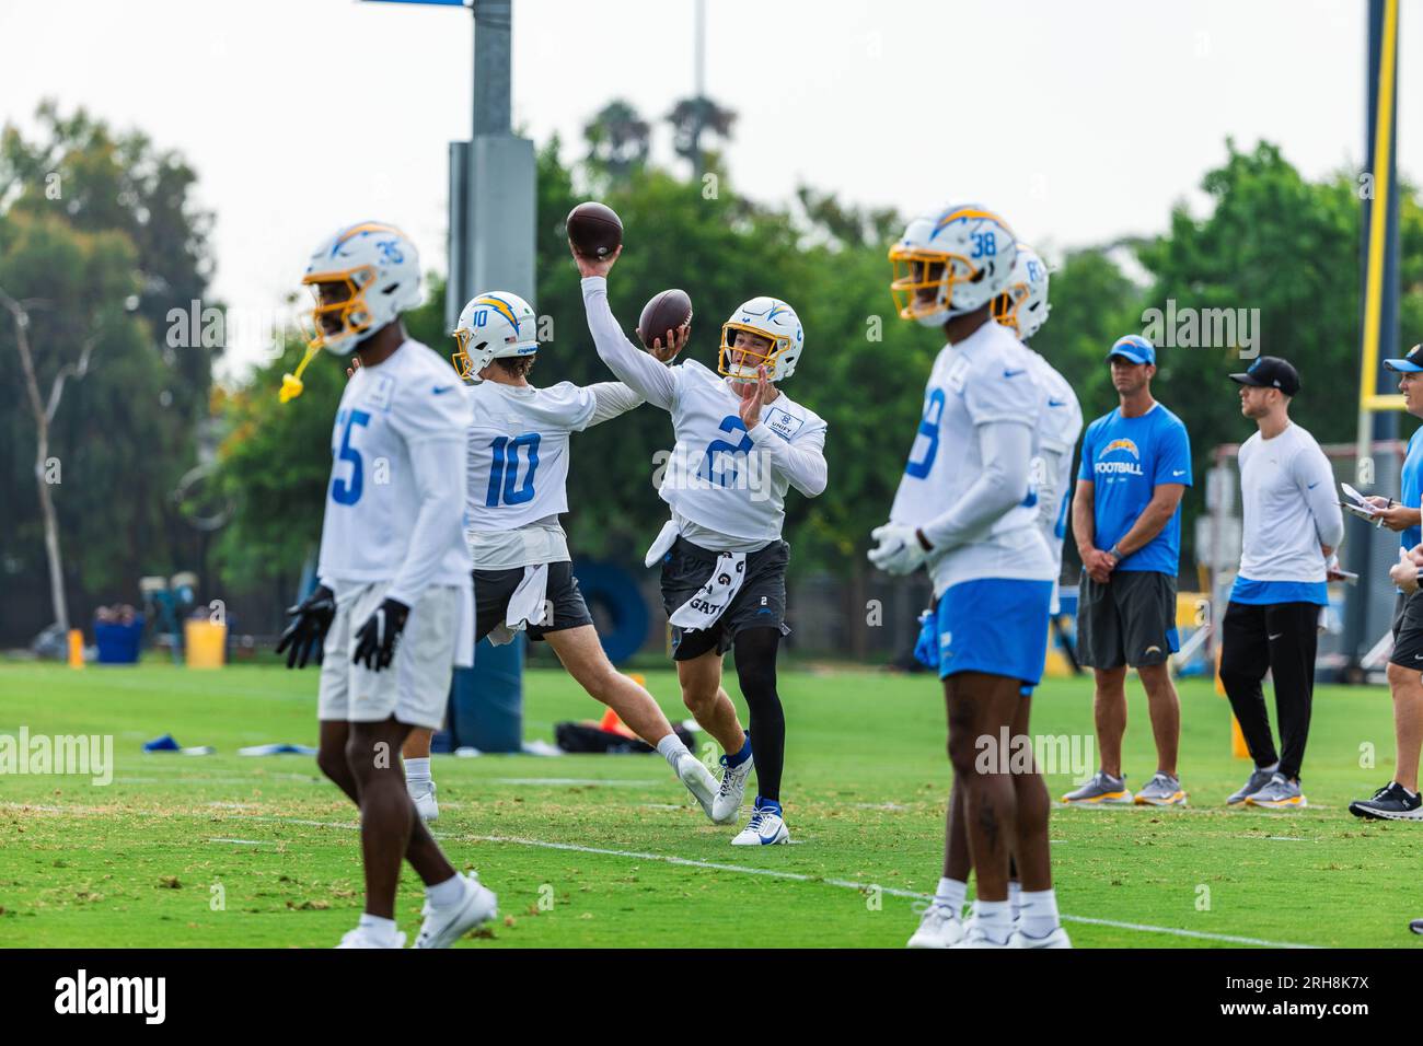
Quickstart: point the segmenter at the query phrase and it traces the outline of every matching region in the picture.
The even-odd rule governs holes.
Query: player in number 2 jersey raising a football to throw
[[[780,791],[785,714],[776,689],[776,655],[790,633],[790,545],[781,527],[787,491],[813,498],[827,481],[825,423],[778,387],[795,370],[804,332],[788,305],[757,297],[721,327],[720,376],[694,360],[663,366],[633,347],[608,305],[606,278],[620,250],[601,260],[575,250],[573,259],[598,354],[647,403],[669,411],[676,431],[659,488],[672,519],[646,562],[662,564],[682,699],[726,753],[713,820],[736,817],[754,764],[756,807],[731,842],[788,842]],[[652,333],[666,333],[673,350],[687,339],[686,327]],[[733,648],[748,734],[721,689],[721,659]]]

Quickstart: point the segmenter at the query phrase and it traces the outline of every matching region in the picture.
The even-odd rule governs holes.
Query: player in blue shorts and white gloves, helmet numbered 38
[[[1052,891],[1047,790],[1027,733],[1056,578],[1032,482],[1043,394],[1029,352],[992,317],[1016,253],[1007,223],[975,204],[915,219],[889,252],[899,316],[941,327],[948,344],[869,559],[899,575],[925,566],[933,581],[929,646],[943,679],[955,787],[973,811],[966,827],[978,875],[973,924],[959,922],[963,894],[945,875],[914,946],[1067,945]],[[995,747],[1007,737],[1009,750],[983,759],[985,737]],[[951,803],[946,847],[952,811]],[[1013,857],[1023,882],[1017,929],[1007,888]]]

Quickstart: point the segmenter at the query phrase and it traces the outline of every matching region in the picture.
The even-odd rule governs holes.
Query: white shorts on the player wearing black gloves
[[[410,608],[396,657],[383,672],[351,662],[356,632],[386,598],[390,582],[360,585],[336,601],[336,616],[322,649],[317,719],[343,723],[398,723],[438,730],[444,723],[454,670],[460,591],[431,585]]]

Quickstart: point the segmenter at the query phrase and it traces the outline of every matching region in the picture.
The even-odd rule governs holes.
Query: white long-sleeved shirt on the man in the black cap
[[[1239,450],[1241,576],[1322,582],[1321,545],[1338,548],[1343,512],[1333,468],[1315,437],[1289,424],[1274,440],[1255,433]]]

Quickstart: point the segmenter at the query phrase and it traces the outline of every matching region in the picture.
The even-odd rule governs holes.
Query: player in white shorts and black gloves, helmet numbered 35
[[[461,519],[470,406],[450,367],[406,336],[420,259],[400,229],[360,222],[327,238],[302,280],[316,295],[310,352],[360,367],[332,430],[317,589],[292,608],[277,652],[322,665],[317,764],[360,807],[366,909],[342,948],[400,948],[401,858],[425,884],[416,948],[448,948],[497,914],[416,815],[398,760],[413,727],[438,727],[474,629]],[[468,660],[468,655],[464,655]]]

